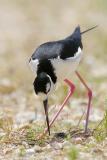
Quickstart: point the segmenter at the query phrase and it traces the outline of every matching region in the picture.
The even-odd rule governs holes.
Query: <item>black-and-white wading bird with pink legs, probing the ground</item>
[[[81,32],[80,26],[78,25],[70,36],[61,40],[46,42],[38,46],[29,59],[29,65],[35,73],[33,82],[34,91],[36,95],[42,99],[45,110],[47,128],[44,130],[44,134],[48,132],[50,135],[50,127],[75,91],[75,85],[68,79],[73,73],[76,73],[77,77],[87,89],[88,106],[84,132],[87,133],[88,131],[92,90],[77,71],[77,67],[83,56],[82,35],[96,27],[97,26],[94,26]],[[55,91],[56,84],[63,80],[69,86],[70,91],[58,112],[49,122],[48,99],[51,93]]]

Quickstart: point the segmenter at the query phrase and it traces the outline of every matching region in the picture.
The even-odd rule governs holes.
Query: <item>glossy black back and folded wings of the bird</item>
[[[76,27],[73,34],[63,40],[47,42],[40,45],[32,55],[32,59],[61,59],[73,57],[78,48],[83,48],[81,42],[80,27]]]

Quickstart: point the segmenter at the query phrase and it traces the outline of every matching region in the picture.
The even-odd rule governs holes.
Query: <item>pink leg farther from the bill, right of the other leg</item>
[[[87,108],[87,115],[86,115],[86,124],[85,124],[85,133],[87,133],[87,129],[88,129],[88,121],[89,121],[89,114],[90,114],[90,107],[91,107],[91,100],[92,100],[92,91],[91,89],[87,86],[87,84],[85,83],[85,81],[83,80],[83,78],[80,76],[80,74],[76,71],[75,72],[76,75],[78,76],[78,78],[80,79],[80,81],[82,82],[82,84],[85,86],[85,88],[88,91],[88,108]]]

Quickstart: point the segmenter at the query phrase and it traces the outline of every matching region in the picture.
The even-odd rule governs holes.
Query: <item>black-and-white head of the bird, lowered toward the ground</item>
[[[47,99],[47,96],[52,89],[51,77],[45,72],[42,72],[35,78],[33,85],[35,93],[40,96],[42,100]]]

